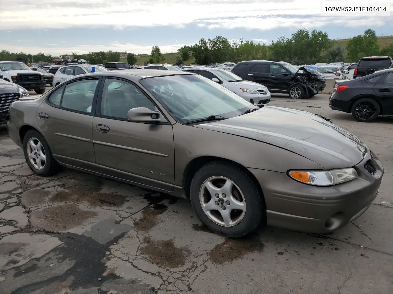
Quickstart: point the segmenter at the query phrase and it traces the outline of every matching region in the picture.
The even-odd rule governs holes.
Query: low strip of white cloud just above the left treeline
[[[195,42],[193,43],[195,44]],[[170,53],[170,52],[177,52],[177,49],[184,45],[193,45],[193,44],[169,44],[169,45],[160,45],[160,49],[162,53]],[[53,44],[47,44],[53,45]],[[135,44],[120,44],[120,43],[111,43],[108,45],[79,45],[75,47],[66,47],[62,46],[61,48],[56,47],[46,47],[46,46],[31,46],[31,45],[24,45],[23,52],[30,53],[30,54],[37,54],[40,52],[51,54],[54,56],[59,56],[62,54],[86,54],[89,52],[96,52],[96,51],[118,51],[118,52],[132,52],[135,54],[150,54],[151,53],[152,45],[135,45]],[[9,52],[20,52],[21,48],[17,45],[2,45],[2,50],[7,50]]]

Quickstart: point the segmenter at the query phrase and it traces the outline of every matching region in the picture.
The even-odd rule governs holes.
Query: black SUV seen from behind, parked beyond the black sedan
[[[360,58],[358,65],[353,72],[353,78],[361,78],[367,74],[375,73],[382,69],[387,69],[393,65],[390,56],[369,56]]]

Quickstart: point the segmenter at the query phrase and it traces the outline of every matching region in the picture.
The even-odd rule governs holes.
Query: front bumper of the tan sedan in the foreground
[[[370,163],[376,174],[364,167]],[[368,151],[354,167],[358,178],[331,187],[316,187],[292,180],[285,173],[249,169],[259,181],[267,208],[268,225],[290,230],[327,233],[362,215],[376,198],[383,167]]]

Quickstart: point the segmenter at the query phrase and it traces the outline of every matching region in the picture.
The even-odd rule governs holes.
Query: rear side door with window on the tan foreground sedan
[[[37,125],[61,163],[92,169],[93,113],[99,77],[67,83],[42,102]]]

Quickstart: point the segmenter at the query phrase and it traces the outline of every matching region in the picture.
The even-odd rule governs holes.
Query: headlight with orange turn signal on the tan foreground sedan
[[[301,183],[314,186],[332,186],[351,181],[358,176],[352,167],[332,171],[290,171],[288,176]]]

